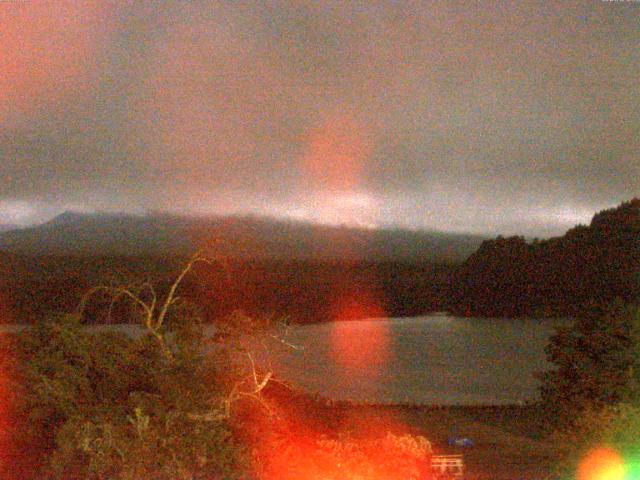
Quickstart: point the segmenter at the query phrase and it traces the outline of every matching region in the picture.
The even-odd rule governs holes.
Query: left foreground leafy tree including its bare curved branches
[[[15,438],[39,444],[44,457],[34,478],[243,477],[250,462],[233,407],[242,399],[266,405],[261,392],[272,380],[254,359],[256,342],[245,340],[276,335],[236,314],[207,338],[197,309],[178,295],[199,262],[208,260],[194,256],[165,296],[149,282],[96,287],[79,314],[41,322],[7,346],[21,392]],[[109,308],[130,302],[140,335],[83,325],[98,294]]]

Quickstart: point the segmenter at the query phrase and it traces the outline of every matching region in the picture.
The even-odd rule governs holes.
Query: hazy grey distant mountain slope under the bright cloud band
[[[217,241],[217,248],[234,258],[460,262],[482,240],[259,217],[66,212],[43,225],[1,233],[0,250],[28,255],[189,255]]]

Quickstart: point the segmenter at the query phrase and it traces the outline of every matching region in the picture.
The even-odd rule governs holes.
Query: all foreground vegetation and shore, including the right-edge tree
[[[602,445],[640,453],[637,307],[594,306],[560,329],[538,404],[383,407],[290,389],[252,360],[277,323],[235,313],[207,339],[168,291],[136,294],[141,336],[87,329],[85,311],[2,337],[0,478],[424,479],[431,455],[460,452],[469,480],[533,480],[572,478]]]

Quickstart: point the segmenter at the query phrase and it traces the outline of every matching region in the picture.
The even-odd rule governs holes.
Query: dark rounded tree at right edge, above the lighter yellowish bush
[[[640,309],[618,300],[594,304],[546,348],[554,368],[540,375],[542,402],[560,427],[584,411],[640,403]]]

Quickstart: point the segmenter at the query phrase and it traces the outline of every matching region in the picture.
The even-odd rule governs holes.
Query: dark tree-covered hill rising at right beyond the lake
[[[468,316],[572,316],[587,305],[640,300],[640,199],[564,236],[486,240],[457,270],[449,309]]]

